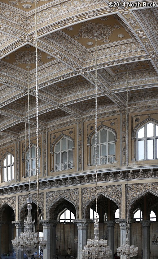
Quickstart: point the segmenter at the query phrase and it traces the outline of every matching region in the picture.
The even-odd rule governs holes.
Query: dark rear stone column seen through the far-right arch
[[[143,220],[142,223],[142,250],[143,259],[150,259],[150,220]]]

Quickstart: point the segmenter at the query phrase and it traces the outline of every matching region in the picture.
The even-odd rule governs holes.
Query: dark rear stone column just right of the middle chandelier
[[[108,246],[112,250],[112,258],[114,258],[114,227],[115,227],[115,220],[107,220],[104,221],[107,224],[108,229]]]

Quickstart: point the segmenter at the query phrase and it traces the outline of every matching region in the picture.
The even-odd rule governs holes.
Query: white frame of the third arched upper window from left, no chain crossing
[[[62,140],[66,139],[66,149],[62,150]],[[72,142],[72,148],[68,148],[68,141]],[[57,145],[60,143],[60,147],[59,147],[59,151],[55,151]],[[70,151],[72,151],[72,161],[69,161],[69,153]],[[63,161],[63,154],[66,153],[66,162],[62,162]],[[59,163],[56,163],[56,156],[59,155]],[[58,171],[64,171],[64,170],[70,170],[73,167],[73,141],[72,139],[63,136],[59,141],[56,142],[55,146],[54,146],[54,171],[58,172]]]

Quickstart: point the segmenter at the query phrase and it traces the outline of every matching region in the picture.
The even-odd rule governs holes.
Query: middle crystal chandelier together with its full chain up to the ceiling
[[[112,250],[107,246],[108,240],[99,239],[99,219],[97,218],[97,35],[98,30],[93,30],[95,36],[95,203],[96,218],[94,222],[94,239],[88,239],[87,245],[81,250],[83,259],[111,259]]]

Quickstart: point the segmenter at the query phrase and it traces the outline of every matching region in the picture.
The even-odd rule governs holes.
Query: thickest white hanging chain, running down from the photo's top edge
[[[39,169],[38,169],[38,53],[37,53],[37,7],[35,0],[35,54],[36,54],[36,141],[37,141],[37,249],[39,249]],[[37,250],[38,251],[38,250]]]

